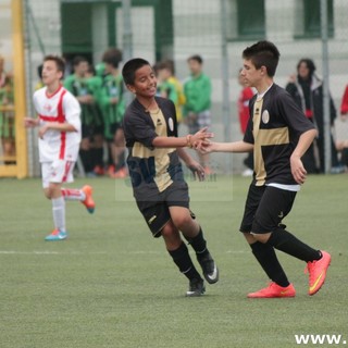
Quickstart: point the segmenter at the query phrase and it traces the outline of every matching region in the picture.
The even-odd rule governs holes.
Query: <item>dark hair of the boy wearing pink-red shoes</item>
[[[243,58],[251,60],[256,69],[265,66],[270,77],[273,77],[278,65],[281,53],[274,44],[259,41],[243,51]]]

